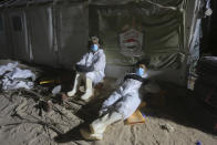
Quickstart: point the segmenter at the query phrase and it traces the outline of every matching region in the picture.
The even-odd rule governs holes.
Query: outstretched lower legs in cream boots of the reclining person
[[[91,132],[81,130],[81,135],[86,139],[103,139],[103,133],[105,132],[106,127],[121,120],[122,114],[117,112],[105,114],[103,117],[100,117],[90,124]]]

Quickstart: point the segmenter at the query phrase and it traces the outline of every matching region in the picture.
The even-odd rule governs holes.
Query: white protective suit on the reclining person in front
[[[147,74],[144,74],[143,77],[147,77]],[[122,85],[104,101],[100,114],[107,111],[116,111],[122,114],[123,120],[130,117],[141,104],[138,93],[141,85],[142,82],[137,80],[125,80]]]

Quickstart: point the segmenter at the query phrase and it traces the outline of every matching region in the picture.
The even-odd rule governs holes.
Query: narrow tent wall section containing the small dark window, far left
[[[29,50],[29,35],[27,28],[27,15],[23,9],[8,10],[8,44],[12,52],[12,58],[30,61],[30,50]]]

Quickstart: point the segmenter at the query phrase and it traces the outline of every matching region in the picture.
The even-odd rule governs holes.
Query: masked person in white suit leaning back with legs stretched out
[[[147,76],[144,64],[140,64],[136,73],[125,75],[121,86],[104,101],[100,118],[90,124],[90,131],[80,130],[81,135],[86,139],[102,139],[107,125],[130,117],[141,104],[138,90],[148,82]]]

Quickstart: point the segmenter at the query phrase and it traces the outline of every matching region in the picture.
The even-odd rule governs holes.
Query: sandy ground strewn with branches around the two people
[[[216,135],[203,132],[192,121],[184,105],[185,90],[169,84],[163,87],[164,96],[153,96],[141,110],[146,114],[144,124],[118,122],[107,127],[103,141],[83,139],[79,130],[95,118],[103,97],[113,91],[113,83],[106,80],[85,106],[55,103],[49,113],[40,112],[31,93],[0,93],[0,145],[195,145],[198,141],[202,145],[217,145]],[[42,94],[40,89],[34,92]]]

